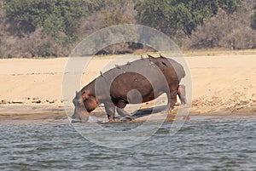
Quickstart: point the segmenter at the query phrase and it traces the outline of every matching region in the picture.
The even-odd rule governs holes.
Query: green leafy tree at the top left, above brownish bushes
[[[83,0],[8,0],[4,9],[10,31],[20,37],[37,28],[55,38],[75,37],[79,19],[88,14]]]

